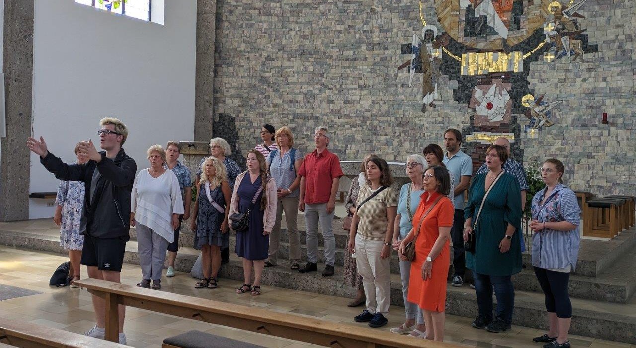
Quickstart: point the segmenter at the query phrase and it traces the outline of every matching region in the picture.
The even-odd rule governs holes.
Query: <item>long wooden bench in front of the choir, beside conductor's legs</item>
[[[373,330],[352,324],[335,323],[98,279],[82,279],[75,284],[106,300],[107,340],[118,339],[118,305],[121,304],[328,347],[463,347],[463,345],[395,335],[389,331]]]

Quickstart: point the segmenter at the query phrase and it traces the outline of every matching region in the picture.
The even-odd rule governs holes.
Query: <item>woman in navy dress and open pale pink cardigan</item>
[[[247,171],[237,176],[230,203],[230,216],[235,212],[250,211],[249,228],[236,234],[235,253],[243,258],[245,277],[245,284],[236,291],[239,294],[251,290],[252,296],[261,295],[261,275],[268,257],[270,232],[276,220],[276,192],[276,182],[267,174],[265,157],[258,150],[249,151]],[[251,283],[252,268],[254,286]]]

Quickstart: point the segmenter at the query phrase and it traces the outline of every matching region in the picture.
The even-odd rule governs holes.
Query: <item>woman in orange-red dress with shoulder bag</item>
[[[424,310],[425,338],[437,341],[444,340],[450,228],[455,213],[452,202],[446,197],[449,190],[450,176],[445,167],[432,165],[424,172],[424,193],[413,216],[413,229],[399,247],[400,257],[404,260],[406,244],[415,239],[408,300],[418,303]]]

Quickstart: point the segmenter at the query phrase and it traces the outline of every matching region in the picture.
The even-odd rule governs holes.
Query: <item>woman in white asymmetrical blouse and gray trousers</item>
[[[150,146],[147,153],[150,167],[137,174],[130,195],[130,226],[137,230],[139,247],[142,279],[137,286],[158,290],[165,253],[183,214],[183,200],[176,174],[163,168],[163,147]]]

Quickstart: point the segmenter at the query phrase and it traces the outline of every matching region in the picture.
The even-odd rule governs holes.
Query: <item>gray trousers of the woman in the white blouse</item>
[[[153,232],[148,226],[135,221],[137,247],[139,247],[139,266],[142,279],[160,281],[163,261],[168,250],[168,240]]]

